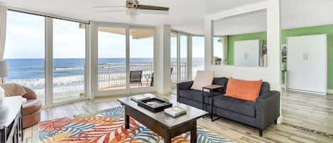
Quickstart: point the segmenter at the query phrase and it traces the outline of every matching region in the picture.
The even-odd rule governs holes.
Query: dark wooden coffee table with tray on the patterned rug
[[[164,99],[166,100],[166,99]],[[139,107],[131,97],[118,99],[125,106],[125,127],[129,129],[129,118],[137,120],[153,132],[164,138],[165,143],[171,143],[173,137],[177,137],[185,132],[191,132],[191,143],[197,142],[197,119],[208,115],[208,112],[190,107],[179,102],[172,102],[173,106],[182,107],[187,110],[185,115],[170,117],[164,112],[151,112],[143,107]],[[167,100],[171,102],[170,100]]]

